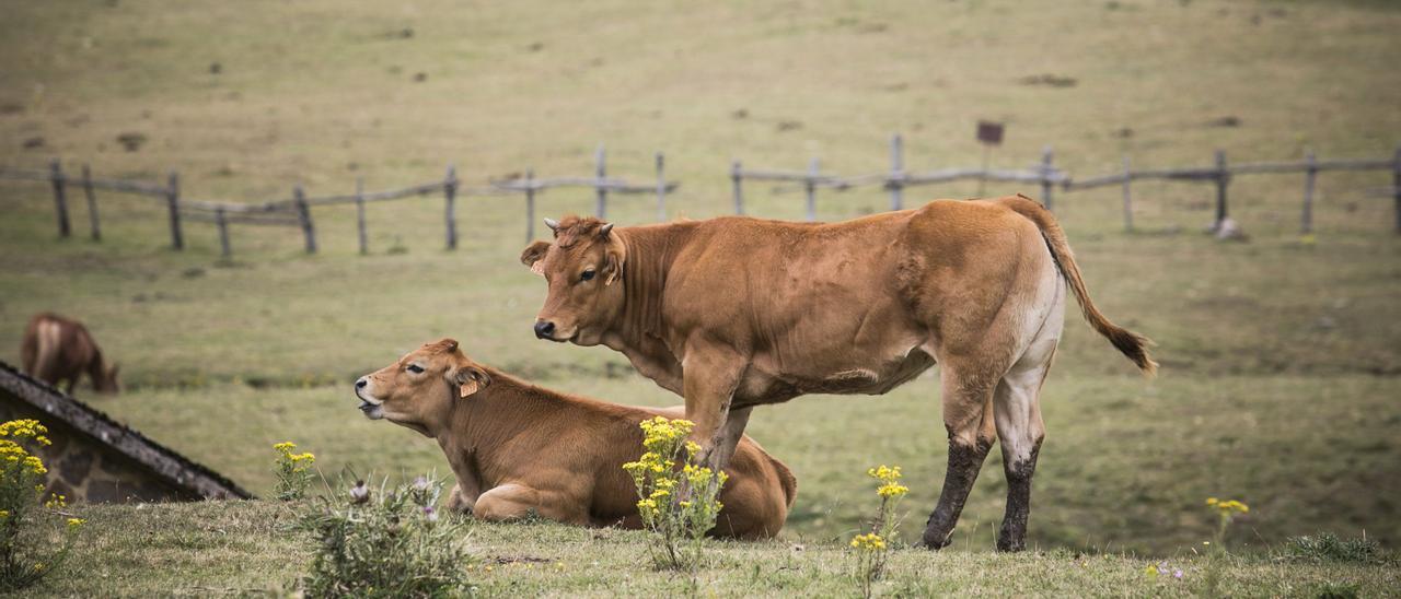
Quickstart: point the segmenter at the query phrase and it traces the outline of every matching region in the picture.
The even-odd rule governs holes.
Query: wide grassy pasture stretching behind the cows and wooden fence
[[[368,189],[395,188],[437,178],[450,162],[469,185],[525,168],[584,175],[602,143],[609,172],[640,181],[651,176],[653,151],[665,151],[668,175],[682,182],[671,216],[703,218],[729,210],[731,158],[801,168],[818,157],[824,169],[871,172],[887,167],[888,134],[902,132],[909,168],[971,167],[981,157],[978,119],[1007,122],[995,167],[1030,165],[1054,146],[1056,162],[1077,176],[1117,169],[1125,153],[1136,165],[1181,167],[1208,164],[1215,148],[1233,161],[1292,160],[1304,148],[1376,158],[1401,141],[1401,11],[1386,3],[0,7],[0,165],[42,168],[62,157],[91,162],[102,176],[147,181],[175,169],[195,199],[279,199],[298,183],[312,195],[340,193],[357,176]],[[1028,83],[1044,76],[1062,84]],[[1236,125],[1220,125],[1227,122]],[[116,139],[127,133],[147,141],[126,151]],[[1390,179],[1323,175],[1316,244],[1297,237],[1300,179],[1238,178],[1233,214],[1251,241],[1229,245],[1198,232],[1210,218],[1209,186],[1136,186],[1138,234],[1121,231],[1118,190],[1056,196],[1096,301],[1159,343],[1163,371],[1143,381],[1069,315],[1044,396],[1049,434],[1031,544],[1184,556],[1210,535],[1201,507],[1208,495],[1251,504],[1231,533],[1240,547],[1318,530],[1401,543],[1401,239],[1390,200],[1373,197]],[[751,214],[803,214],[800,193],[747,189]],[[975,190],[919,189],[906,203]],[[1017,190],[1035,192],[988,188]],[[0,182],[0,340],[8,340],[0,360],[18,360],[34,312],[87,320],[122,364],[127,392],[78,396],[255,493],[272,487],[270,444],[289,438],[332,473],[350,463],[446,473],[434,444],[366,421],[347,392],[354,376],[444,336],[546,386],[622,403],[678,402],[621,354],[532,339],[545,290],[517,262],[517,199],[464,200],[457,252],[443,249],[441,199],[425,197],[371,206],[370,256],[356,255],[353,209],[325,209],[315,214],[319,255],[301,253],[297,231],[241,227],[233,263],[217,260],[212,227],[188,224],[189,248],[177,253],[167,249],[160,206],[113,195],[101,203],[101,244],[60,241],[46,186]],[[839,220],[885,203],[876,189],[824,192],[818,210]],[[541,216],[591,209],[590,192],[539,202]],[[623,225],[653,214],[649,197],[611,206]],[[85,210],[76,206],[73,216],[83,231]],[[943,476],[934,372],[883,397],[813,396],[761,409],[750,432],[799,476],[779,547],[835,553],[828,543],[845,540],[874,508],[864,469],[876,463],[906,469],[912,540]],[[960,571],[974,560],[964,550],[992,547],[1003,493],[993,455],[955,532],[957,550],[901,557],[911,579],[936,585],[932,592],[957,588],[937,586],[946,582],[989,593],[1024,586],[978,585],[1107,592],[1142,570],[1104,557],[1104,570],[1080,577],[1065,568],[1069,558],[985,556],[992,570]],[[127,509],[92,514],[101,525]],[[210,518],[227,509],[231,522],[244,522],[273,508],[171,509],[210,509]],[[481,530],[486,546],[516,535]],[[520,535],[524,544],[591,539],[553,528]],[[120,570],[221,560],[217,551],[157,554],[119,536],[104,536],[112,543],[105,554],[80,563],[111,560],[101,564],[112,575],[139,577]],[[290,577],[297,563],[258,553],[263,537],[254,539],[230,542],[244,543],[230,551],[248,557],[247,571],[214,568],[210,579]],[[276,539],[276,547],[291,543]],[[560,556],[580,564],[570,551],[588,550]],[[786,551],[726,553],[736,560],[731,574],[747,577],[740,563],[750,556],[773,565]],[[1241,584],[1267,585],[1258,593],[1303,592],[1314,579],[1302,572],[1265,582],[1276,565],[1251,568]],[[989,571],[1003,574],[976,578]],[[622,575],[570,572],[574,582],[548,588],[602,592],[609,586],[590,585]],[[130,592],[158,588],[143,581]],[[801,588],[822,592],[822,584],[835,582]],[[762,585],[782,592],[780,582]]]

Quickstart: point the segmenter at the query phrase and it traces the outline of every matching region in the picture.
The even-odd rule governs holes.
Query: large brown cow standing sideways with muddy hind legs
[[[1068,284],[1094,330],[1146,374],[1156,368],[1147,340],[1094,306],[1061,227],[1024,196],[835,224],[546,224],[555,241],[521,255],[549,283],[535,334],[622,351],[682,395],[713,466],[754,406],[885,393],[937,361],[948,470],[923,535],[933,549],[948,544],[995,439],[1009,487],[998,547],[1024,547],[1041,383]]]

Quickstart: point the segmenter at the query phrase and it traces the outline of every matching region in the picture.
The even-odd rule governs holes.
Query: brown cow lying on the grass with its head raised
[[[488,521],[537,512],[559,522],[639,528],[623,472],[642,455],[643,420],[677,410],[618,406],[542,389],[474,362],[444,339],[354,383],[360,410],[437,439],[457,474],[450,507]],[[717,536],[768,539],[797,481],[748,437],[720,494]]]

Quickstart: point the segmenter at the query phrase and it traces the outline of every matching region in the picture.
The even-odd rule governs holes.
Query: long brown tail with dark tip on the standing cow
[[[1149,355],[1147,347],[1153,343],[1147,337],[1128,330],[1110,322],[1108,318],[1094,306],[1094,301],[1090,300],[1090,290],[1084,287],[1084,280],[1080,279],[1080,267],[1075,263],[1075,255],[1070,252],[1070,242],[1065,238],[1065,231],[1055,221],[1055,217],[1049,210],[1044,209],[1035,200],[1017,195],[1016,197],[1005,197],[1002,200],[1005,206],[1031,220],[1041,230],[1041,237],[1047,242],[1047,248],[1051,249],[1051,256],[1055,259],[1056,267],[1061,270],[1061,276],[1065,277],[1066,283],[1070,284],[1070,291],[1075,293],[1075,298],[1080,302],[1080,313],[1084,319],[1094,327],[1100,334],[1110,340],[1124,355],[1128,355],[1131,361],[1146,376],[1153,376],[1157,374],[1157,362]]]

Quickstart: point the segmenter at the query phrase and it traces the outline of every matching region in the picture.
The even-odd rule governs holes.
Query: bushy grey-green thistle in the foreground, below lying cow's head
[[[469,591],[467,522],[440,516],[443,483],[371,491],[357,481],[347,498],[321,498],[298,521],[314,535],[308,596],[443,596]]]

